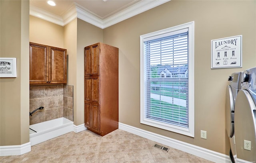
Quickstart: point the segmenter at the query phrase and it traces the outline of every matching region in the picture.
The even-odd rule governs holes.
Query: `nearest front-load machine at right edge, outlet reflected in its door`
[[[244,71],[234,112],[238,159],[256,162],[256,67]]]

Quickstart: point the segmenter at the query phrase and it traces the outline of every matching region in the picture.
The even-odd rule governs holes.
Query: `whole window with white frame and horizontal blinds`
[[[194,22],[140,36],[140,123],[194,137]]]

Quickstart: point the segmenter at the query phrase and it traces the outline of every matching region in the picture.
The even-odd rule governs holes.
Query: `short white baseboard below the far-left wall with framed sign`
[[[31,151],[31,143],[0,146],[0,156],[22,155]]]

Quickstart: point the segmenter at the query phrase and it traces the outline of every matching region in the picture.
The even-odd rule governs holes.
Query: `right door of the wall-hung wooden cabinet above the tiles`
[[[50,53],[50,83],[67,83],[67,51],[57,47],[49,47]]]

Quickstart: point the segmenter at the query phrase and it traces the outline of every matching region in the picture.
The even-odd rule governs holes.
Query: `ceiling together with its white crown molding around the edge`
[[[65,26],[80,18],[102,29],[170,0],[30,0],[30,15]]]

